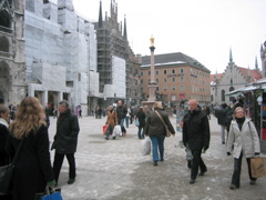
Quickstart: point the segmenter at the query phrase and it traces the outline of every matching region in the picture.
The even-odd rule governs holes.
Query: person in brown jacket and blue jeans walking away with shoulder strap
[[[157,166],[158,160],[164,161],[164,139],[166,136],[165,126],[156,112],[162,117],[170,132],[173,136],[175,134],[175,130],[170,122],[167,113],[163,111],[162,102],[155,101],[154,111],[150,112],[144,128],[145,136],[149,136],[152,141],[153,166]]]

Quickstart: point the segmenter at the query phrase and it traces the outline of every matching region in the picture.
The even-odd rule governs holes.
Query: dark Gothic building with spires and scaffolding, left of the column
[[[111,1],[110,17],[102,16],[100,1],[99,21],[95,23],[98,39],[98,72],[100,73],[100,106],[113,104],[121,99],[135,104],[140,99],[139,69],[141,63],[129,46],[126,20],[117,22],[117,3]]]

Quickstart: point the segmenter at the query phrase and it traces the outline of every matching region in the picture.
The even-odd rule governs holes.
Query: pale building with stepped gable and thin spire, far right
[[[235,97],[227,97],[226,93],[243,88],[250,82],[262,79],[263,76],[255,61],[254,69],[237,67],[233,61],[232,51],[229,53],[229,62],[224,73],[211,76],[211,94],[212,103],[219,106],[222,103],[232,104]]]

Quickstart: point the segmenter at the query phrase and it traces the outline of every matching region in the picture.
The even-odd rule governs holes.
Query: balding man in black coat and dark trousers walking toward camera
[[[183,127],[183,142],[184,146],[190,147],[192,150],[192,168],[191,168],[191,181],[195,183],[197,177],[198,167],[201,172],[198,176],[203,176],[207,168],[202,160],[202,151],[205,152],[209,146],[209,124],[207,116],[198,108],[195,99],[190,100],[190,112],[184,117]]]

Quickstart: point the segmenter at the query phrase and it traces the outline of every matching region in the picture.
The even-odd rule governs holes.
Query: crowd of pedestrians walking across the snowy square
[[[33,200],[35,194],[43,192],[45,188],[57,187],[64,157],[69,162],[68,183],[74,183],[76,176],[74,154],[80,132],[79,119],[71,112],[70,104],[65,100],[58,103],[57,112],[57,132],[50,148],[49,114],[47,114],[47,108],[43,108],[37,98],[24,98],[17,107],[11,123],[10,108],[0,104],[0,166],[10,163],[18,154],[11,184],[8,191],[0,196],[1,199]],[[98,107],[95,109],[96,118],[101,118],[102,112],[103,109]],[[110,139],[110,136],[112,139],[116,138],[113,132],[116,132],[117,127],[120,136],[126,137],[129,124],[134,122],[139,128],[137,138],[151,141],[153,166],[156,167],[160,161],[164,161],[164,140],[168,133],[175,136],[175,129],[161,101],[155,101],[152,109],[147,106],[132,109],[119,100],[116,107],[110,106],[106,111],[104,109],[104,112],[106,112],[104,130],[106,140]],[[235,190],[241,187],[243,158],[246,158],[247,161],[250,184],[255,184],[256,178],[252,176],[250,159],[259,156],[259,139],[256,128],[246,117],[243,106],[238,103],[229,109],[226,104],[222,104],[221,110],[214,112],[208,107],[202,109],[195,99],[188,101],[188,111],[183,119],[182,134],[186,151],[190,152],[190,183],[194,184],[197,176],[204,176],[207,172],[202,153],[209,148],[208,120],[212,113],[221,126],[222,144],[226,144],[227,154],[234,157],[234,171],[229,188]],[[79,118],[81,117],[82,111],[79,112]],[[51,163],[50,150],[55,151],[53,163]]]

